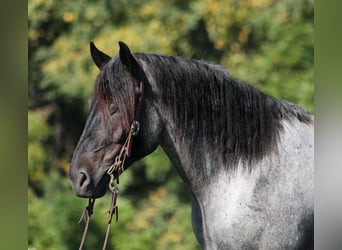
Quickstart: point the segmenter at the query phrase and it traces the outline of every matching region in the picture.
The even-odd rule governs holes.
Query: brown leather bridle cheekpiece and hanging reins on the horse
[[[141,103],[142,103],[143,94],[144,94],[144,84],[142,81],[140,81],[139,83],[139,89],[140,89],[140,95],[138,97],[134,119],[133,119],[133,122],[131,123],[129,134],[126,138],[125,143],[121,147],[120,153],[115,157],[114,163],[108,168],[106,172],[106,174],[110,176],[108,189],[112,193],[112,197],[111,197],[110,206],[108,209],[109,219],[107,223],[107,231],[106,231],[106,236],[103,242],[102,250],[105,250],[107,247],[110,225],[112,222],[113,214],[115,214],[116,223],[118,222],[118,219],[119,219],[119,208],[116,205],[116,200],[119,195],[119,188],[115,185],[115,181],[117,184],[119,184],[119,175],[125,171],[124,164],[125,164],[126,158],[130,157],[131,155],[133,137],[138,135],[139,130],[140,130],[140,123],[137,121],[137,119],[139,118]],[[84,208],[81,219],[79,221],[79,223],[82,221],[82,219],[85,219],[86,221],[79,250],[82,250],[84,246],[85,238],[86,238],[88,228],[89,228],[90,217],[93,214],[94,204],[95,204],[95,198],[90,198],[88,201],[88,206]]]

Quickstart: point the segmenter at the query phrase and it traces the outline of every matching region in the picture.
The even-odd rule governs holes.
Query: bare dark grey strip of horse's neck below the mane
[[[145,62],[142,63],[145,67]],[[199,137],[194,127],[189,131],[174,116],[174,105],[165,105],[162,97],[162,90],[157,84],[159,79],[149,75],[150,70],[145,72],[151,84],[151,96],[153,96],[153,109],[157,110],[163,124],[163,132],[160,138],[160,145],[177,168],[180,176],[191,190],[198,190],[210,184],[213,176],[224,171],[224,162],[220,154],[210,146],[212,141],[207,137]],[[162,75],[162,74],[161,74]],[[173,82],[175,85],[184,82]],[[177,100],[176,100],[177,102]],[[199,122],[200,123],[200,122]]]

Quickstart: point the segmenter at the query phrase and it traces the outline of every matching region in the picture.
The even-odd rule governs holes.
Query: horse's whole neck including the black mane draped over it
[[[281,119],[309,119],[299,107],[236,82],[217,66],[158,56],[147,60],[142,65],[163,124],[160,144],[191,189],[274,151]]]

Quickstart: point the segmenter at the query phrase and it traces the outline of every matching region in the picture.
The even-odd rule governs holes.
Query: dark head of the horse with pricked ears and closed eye
[[[91,56],[100,73],[69,170],[73,191],[80,197],[98,198],[106,193],[110,180],[107,171],[127,146],[133,126],[137,130],[140,125],[140,131],[134,140],[130,139],[124,169],[159,144],[160,124],[148,100],[149,81],[128,46],[123,42],[119,46],[119,56],[111,58],[90,43]],[[133,131],[134,135],[137,132]],[[114,175],[118,177],[122,171]]]

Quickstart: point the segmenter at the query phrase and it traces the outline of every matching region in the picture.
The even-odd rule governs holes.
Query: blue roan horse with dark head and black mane
[[[124,167],[162,146],[190,189],[202,249],[313,248],[313,117],[220,66],[119,45],[113,58],[90,46],[100,73],[71,162],[76,195],[106,193],[137,119]]]

